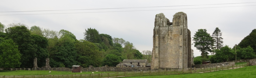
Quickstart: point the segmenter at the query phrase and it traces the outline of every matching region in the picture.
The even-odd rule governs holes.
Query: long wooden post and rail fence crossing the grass
[[[83,75],[23,75],[23,76],[0,76],[0,78],[109,78],[125,76],[149,76],[149,75],[174,75],[174,74],[193,74],[205,73],[219,70],[228,70],[248,66],[248,63],[241,65],[226,65],[207,68],[183,68],[161,71],[132,71],[132,72],[113,72],[101,74],[83,74]]]

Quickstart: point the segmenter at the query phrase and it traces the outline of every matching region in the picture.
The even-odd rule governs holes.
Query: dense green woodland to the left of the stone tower
[[[142,54],[143,53],[143,54]],[[51,67],[115,66],[123,59],[147,59],[151,51],[139,52],[133,43],[122,38],[100,34],[87,28],[84,39],[77,40],[68,30],[50,30],[39,26],[0,22],[0,68],[32,68],[37,58],[38,67],[45,66],[46,58]]]

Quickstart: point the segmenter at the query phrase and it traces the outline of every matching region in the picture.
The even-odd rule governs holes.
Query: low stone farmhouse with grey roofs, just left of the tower
[[[150,67],[147,59],[124,59],[117,67]]]

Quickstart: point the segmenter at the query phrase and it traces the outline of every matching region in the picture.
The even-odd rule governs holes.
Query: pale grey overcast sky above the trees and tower
[[[155,15],[164,13],[170,21],[177,12],[187,14],[191,37],[198,29],[212,34],[216,27],[222,32],[223,44],[233,47],[256,28],[255,0],[1,0],[0,22],[4,25],[22,23],[59,31],[68,30],[83,39],[87,28],[100,34],[123,38],[142,52],[152,51]],[[229,4],[239,3],[239,4]],[[205,5],[216,4],[216,5]],[[200,6],[187,6],[200,5]],[[252,6],[251,6],[252,5]],[[159,7],[174,6],[174,7]],[[237,7],[231,7],[237,6]],[[131,8],[150,7],[150,8]],[[218,7],[218,8],[208,8]],[[120,8],[120,9],[103,9]],[[194,9],[192,9],[194,8]],[[98,9],[98,10],[78,10]],[[67,10],[67,11],[46,11]],[[142,11],[153,10],[153,11]],[[10,12],[32,11],[32,12]],[[113,12],[124,11],[124,12]],[[81,13],[82,12],[82,13]],[[87,13],[85,13],[87,12]],[[88,13],[90,12],[90,13]],[[67,14],[45,14],[67,13]],[[18,14],[18,15],[17,15]],[[38,15],[20,15],[38,14]],[[192,41],[193,42],[193,41]],[[199,50],[192,45],[194,56]]]

